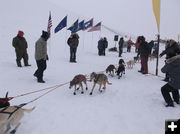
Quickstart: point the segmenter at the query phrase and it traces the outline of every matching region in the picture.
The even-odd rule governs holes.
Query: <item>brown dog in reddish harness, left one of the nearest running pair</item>
[[[79,89],[79,87],[81,87],[82,91],[81,93],[83,94],[84,91],[83,91],[83,85],[82,83],[84,83],[86,85],[86,90],[88,89],[87,87],[87,79],[86,79],[86,76],[85,75],[82,75],[82,74],[79,74],[79,75],[76,75],[72,81],[70,81],[70,85],[69,85],[69,88],[71,88],[72,86],[74,86],[75,90],[74,90],[74,95],[76,95],[76,91]],[[76,88],[76,85],[79,85],[78,88]]]

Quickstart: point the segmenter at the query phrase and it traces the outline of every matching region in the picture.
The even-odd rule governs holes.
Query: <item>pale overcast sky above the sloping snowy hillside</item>
[[[79,18],[94,17],[113,29],[154,38],[157,34],[152,0],[49,0]],[[180,0],[162,0],[161,37],[177,39],[180,34]]]

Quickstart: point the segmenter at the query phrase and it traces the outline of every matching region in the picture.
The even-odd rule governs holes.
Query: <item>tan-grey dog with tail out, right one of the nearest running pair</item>
[[[90,95],[93,94],[94,87],[96,84],[99,84],[99,91],[102,92],[101,87],[104,85],[103,89],[106,89],[106,83],[111,85],[112,83],[109,83],[108,78],[105,74],[96,74],[95,72],[92,72],[90,75],[90,81],[94,80],[93,88],[90,92]]]

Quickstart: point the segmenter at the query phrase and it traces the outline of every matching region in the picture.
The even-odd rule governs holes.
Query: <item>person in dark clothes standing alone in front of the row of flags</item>
[[[67,44],[70,47],[70,62],[76,63],[76,51],[79,44],[79,35],[77,33],[72,33]]]

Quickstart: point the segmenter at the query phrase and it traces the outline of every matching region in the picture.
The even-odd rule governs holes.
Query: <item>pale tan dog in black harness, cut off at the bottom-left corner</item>
[[[30,113],[35,107],[31,109],[24,109],[21,106],[9,106],[0,109],[0,134],[6,134],[10,131],[11,134],[16,132],[20,125],[20,120],[24,113]],[[13,129],[11,129],[13,127]]]

